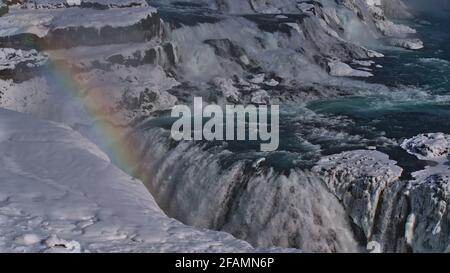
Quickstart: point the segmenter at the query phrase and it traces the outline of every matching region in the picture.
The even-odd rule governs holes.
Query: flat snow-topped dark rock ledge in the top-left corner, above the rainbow
[[[0,17],[0,25],[0,41],[11,47],[21,46],[23,36],[44,48],[60,48],[144,42],[160,35],[157,10],[149,6],[105,10],[11,8]]]

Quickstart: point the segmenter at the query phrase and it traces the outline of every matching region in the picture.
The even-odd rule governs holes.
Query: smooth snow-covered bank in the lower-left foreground
[[[69,127],[0,109],[0,252],[258,251],[169,219]]]

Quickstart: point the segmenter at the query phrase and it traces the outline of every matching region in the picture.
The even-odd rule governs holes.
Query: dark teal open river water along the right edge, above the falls
[[[315,101],[307,107],[316,113],[345,116],[354,127],[371,127],[387,138],[401,141],[420,133],[450,133],[450,31],[445,21],[428,18],[431,25],[414,25],[425,42],[418,51],[387,49],[368,81],[393,88],[373,90],[372,95]],[[406,171],[420,169],[422,162],[398,147],[380,147]]]

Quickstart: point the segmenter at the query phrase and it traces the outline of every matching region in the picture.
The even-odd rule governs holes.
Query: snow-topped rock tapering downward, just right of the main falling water
[[[353,223],[370,239],[382,192],[403,170],[378,151],[358,150],[322,158],[313,171],[341,200]]]

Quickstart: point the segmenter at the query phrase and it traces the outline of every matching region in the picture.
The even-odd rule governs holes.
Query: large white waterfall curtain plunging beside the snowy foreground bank
[[[161,208],[186,224],[222,230],[255,246],[357,251],[344,209],[314,174],[280,173],[224,146],[170,140],[161,128],[136,132],[136,173]],[[249,159],[246,159],[248,156]],[[146,175],[148,174],[148,175]]]

